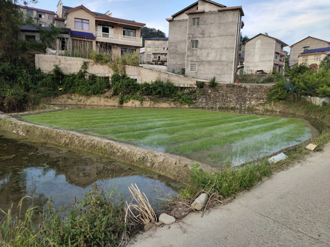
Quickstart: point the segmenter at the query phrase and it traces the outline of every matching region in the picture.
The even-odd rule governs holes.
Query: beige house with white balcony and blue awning
[[[126,53],[139,51],[140,36],[144,23],[118,19],[108,11],[105,14],[92,12],[84,5],[71,8],[59,1],[56,26],[72,30],[68,47],[74,54],[87,56],[91,50],[106,52],[115,59]]]

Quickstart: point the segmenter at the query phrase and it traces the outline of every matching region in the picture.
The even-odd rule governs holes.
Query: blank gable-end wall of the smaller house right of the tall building
[[[262,69],[271,73],[274,67],[276,40],[264,35],[256,36],[245,45],[244,73],[256,73]]]

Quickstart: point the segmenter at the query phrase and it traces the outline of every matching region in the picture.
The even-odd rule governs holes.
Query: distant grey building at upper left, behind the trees
[[[18,5],[21,12],[23,12],[23,19],[27,21],[31,18],[34,25],[39,25],[40,27],[50,27],[54,24],[54,17],[56,13],[50,10],[41,10],[38,8],[31,8],[24,5]]]

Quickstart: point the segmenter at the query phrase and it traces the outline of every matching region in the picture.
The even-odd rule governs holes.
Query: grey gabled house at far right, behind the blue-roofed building
[[[307,38],[304,38],[303,40],[294,43],[294,45],[290,46],[289,67],[294,67],[294,65],[298,64],[298,57],[304,51],[325,47],[330,47],[329,41],[321,40],[319,38],[314,38],[311,36],[308,36]]]

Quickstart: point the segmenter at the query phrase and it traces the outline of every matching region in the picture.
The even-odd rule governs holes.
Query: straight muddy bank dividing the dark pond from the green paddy
[[[188,158],[174,154],[166,154],[134,145],[120,143],[80,134],[74,131],[57,130],[45,126],[38,126],[24,121],[19,121],[8,115],[0,115],[0,128],[23,137],[39,141],[46,141],[65,147],[83,150],[92,154],[99,154],[117,161],[129,163],[138,167],[150,169],[158,174],[186,183],[187,172],[193,163]],[[201,164],[203,169],[213,172],[209,165]]]

